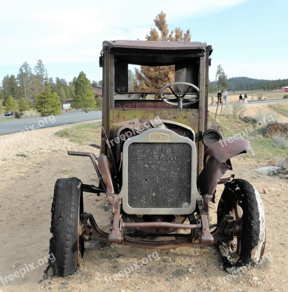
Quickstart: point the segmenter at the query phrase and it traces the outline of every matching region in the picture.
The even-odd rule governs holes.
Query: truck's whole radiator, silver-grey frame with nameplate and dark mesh
[[[202,197],[196,187],[194,142],[166,128],[129,138],[123,146],[119,198],[126,214],[187,215]]]

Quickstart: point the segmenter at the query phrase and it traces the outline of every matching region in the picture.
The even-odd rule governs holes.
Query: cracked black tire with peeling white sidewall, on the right
[[[229,214],[235,202],[242,208],[243,212],[241,249],[236,262],[230,261],[231,253],[225,247],[227,243],[219,242],[224,269],[229,273],[244,265],[250,268],[256,266],[262,259],[266,243],[263,203],[258,191],[245,180],[235,179],[225,183],[224,191],[218,203],[218,222],[223,215]]]

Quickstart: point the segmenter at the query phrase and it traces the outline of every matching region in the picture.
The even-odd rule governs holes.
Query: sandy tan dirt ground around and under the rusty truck
[[[58,128],[35,131],[35,140],[31,135],[28,140],[15,142],[10,150],[7,145],[0,145],[0,292],[288,291],[288,231],[285,227],[288,180],[255,173],[255,168],[265,164],[257,164],[249,154],[233,158],[234,170],[225,176],[234,173],[236,178],[247,179],[259,190],[264,202],[268,256],[260,267],[228,278],[212,244],[155,251],[88,242],[76,274],[65,278],[49,275],[43,280],[55,181],[76,176],[83,183],[97,185],[90,159],[66,154],[66,150],[92,151],[93,148],[54,137]],[[11,135],[16,134],[0,139]],[[41,141],[41,149],[36,141]],[[22,153],[19,149],[23,143],[28,143],[30,150],[24,156],[17,156]],[[216,202],[222,189],[223,185],[219,185]],[[107,228],[110,211],[104,204],[104,195],[84,194],[84,210],[95,216],[98,225]],[[211,217],[215,220],[217,204],[212,208]],[[126,274],[115,277],[120,271]],[[21,272],[23,277],[16,272]],[[12,279],[12,274],[18,277]]]

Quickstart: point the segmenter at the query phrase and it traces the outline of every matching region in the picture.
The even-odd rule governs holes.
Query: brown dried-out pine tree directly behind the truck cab
[[[183,30],[179,27],[169,33],[166,14],[161,11],[154,19],[156,28],[151,28],[146,35],[146,40],[162,41],[190,41],[191,35],[188,29],[183,35]],[[158,29],[158,30],[157,30]],[[134,83],[134,91],[150,89],[149,91],[159,91],[164,85],[174,82],[174,65],[171,66],[141,66],[140,70],[135,68],[135,75],[138,80]]]

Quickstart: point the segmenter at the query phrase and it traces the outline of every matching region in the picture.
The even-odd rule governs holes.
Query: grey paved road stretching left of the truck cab
[[[70,111],[63,112],[58,116],[31,118],[31,119],[15,119],[2,121],[2,118],[8,118],[1,116],[0,121],[0,135],[20,132],[22,130],[33,130],[38,128],[48,128],[61,126],[66,124],[92,121],[101,119],[101,111],[90,111],[85,113],[84,111]],[[11,117],[10,117],[11,118]]]

